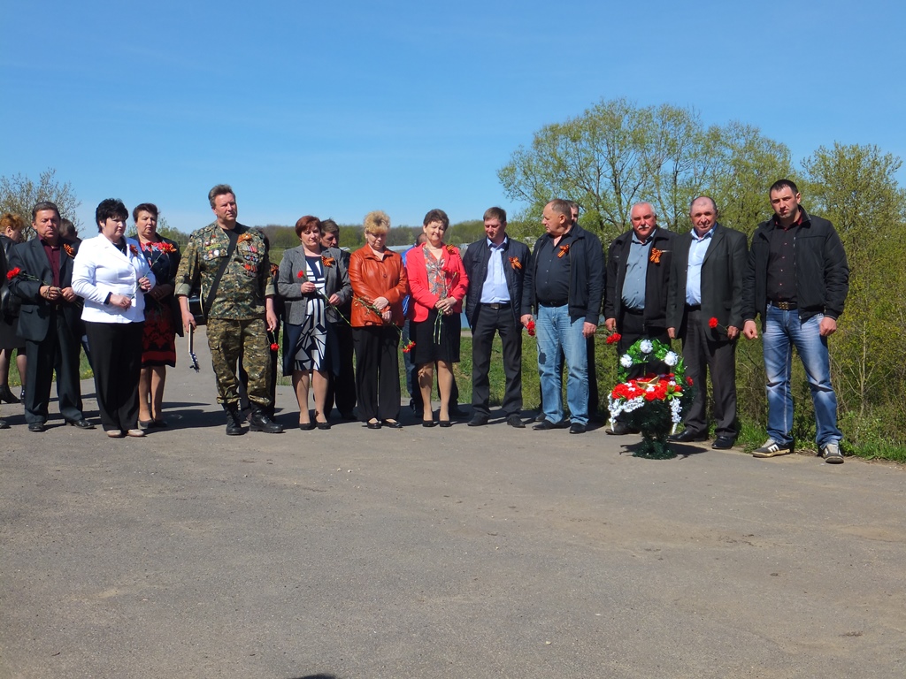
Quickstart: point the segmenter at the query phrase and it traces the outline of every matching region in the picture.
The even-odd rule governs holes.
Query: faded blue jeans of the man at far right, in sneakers
[[[765,371],[767,373],[767,435],[779,444],[793,439],[793,394],[790,373],[793,369],[793,347],[802,360],[808,387],[812,391],[818,446],[837,443],[843,438],[837,428],[837,397],[831,386],[831,362],[827,338],[818,327],[823,314],[799,322],[798,312],[782,311],[767,305],[764,332]]]

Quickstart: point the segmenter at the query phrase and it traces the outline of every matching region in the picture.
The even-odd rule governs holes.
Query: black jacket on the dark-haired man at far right
[[[823,313],[837,319],[849,292],[849,263],[843,242],[834,225],[822,217],[802,210],[802,225],[795,235],[793,262],[795,265],[796,306],[800,322]],[[743,285],[743,319],[755,320],[761,314],[765,327],[767,311],[767,260],[770,255],[770,234],[774,217],[762,222],[752,236],[748,252],[748,267]]]

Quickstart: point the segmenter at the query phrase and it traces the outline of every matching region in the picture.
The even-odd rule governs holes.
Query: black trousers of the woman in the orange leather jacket
[[[400,416],[400,333],[391,326],[352,329],[359,419]]]

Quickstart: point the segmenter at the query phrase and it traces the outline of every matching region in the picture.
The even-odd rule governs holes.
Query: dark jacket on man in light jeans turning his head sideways
[[[601,239],[580,225],[570,229],[569,252],[569,315],[583,318],[586,323],[598,324],[601,318],[601,299],[604,287],[604,253]],[[535,241],[532,251],[532,281],[538,266],[538,253],[554,247],[554,240],[547,234]],[[535,287],[532,287],[532,306],[536,306]]]

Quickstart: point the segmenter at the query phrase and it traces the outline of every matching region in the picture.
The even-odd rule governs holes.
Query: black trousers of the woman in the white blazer
[[[85,322],[94,362],[94,389],[104,431],[139,426],[141,336],[145,323]]]

